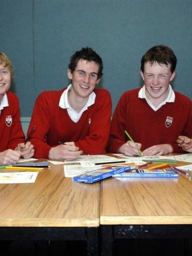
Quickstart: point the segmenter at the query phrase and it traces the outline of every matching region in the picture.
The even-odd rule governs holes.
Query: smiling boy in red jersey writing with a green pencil
[[[125,92],[113,115],[109,152],[136,155],[165,155],[183,152],[179,135],[192,137],[192,102],[173,91],[177,58],[164,45],[149,49],[141,59],[144,86]],[[134,139],[127,141],[125,130]]]

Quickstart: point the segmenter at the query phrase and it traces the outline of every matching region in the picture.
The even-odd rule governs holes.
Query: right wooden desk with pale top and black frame
[[[192,237],[192,182],[112,178],[101,183],[102,255],[115,238]]]

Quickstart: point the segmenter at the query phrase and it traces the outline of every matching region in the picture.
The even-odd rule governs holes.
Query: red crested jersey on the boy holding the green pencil
[[[175,91],[175,102],[167,102],[154,111],[144,98],[138,97],[139,88],[126,91],[115,109],[111,122],[108,151],[117,153],[127,140],[125,130],[141,150],[158,144],[170,144],[173,152],[183,153],[176,140],[179,135],[192,137],[192,102]]]

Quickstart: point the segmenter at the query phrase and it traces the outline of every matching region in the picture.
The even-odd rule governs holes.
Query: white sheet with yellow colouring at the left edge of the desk
[[[38,172],[0,172],[0,184],[34,183]]]

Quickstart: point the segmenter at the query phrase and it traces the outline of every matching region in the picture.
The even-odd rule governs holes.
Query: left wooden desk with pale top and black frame
[[[87,255],[97,255],[99,197],[99,182],[74,183],[62,165],[32,184],[0,184],[0,240],[86,240]]]

